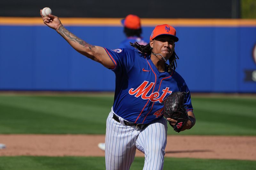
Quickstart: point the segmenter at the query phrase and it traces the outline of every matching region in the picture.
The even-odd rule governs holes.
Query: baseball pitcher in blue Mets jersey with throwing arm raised
[[[76,51],[116,75],[114,103],[106,126],[106,169],[129,169],[136,148],[145,154],[144,170],[163,169],[167,121],[177,132],[190,129],[196,122],[188,86],[175,71],[176,30],[159,25],[150,35],[149,44],[132,43],[138,50],[112,50],[76,37],[58,17],[40,14],[44,24]]]

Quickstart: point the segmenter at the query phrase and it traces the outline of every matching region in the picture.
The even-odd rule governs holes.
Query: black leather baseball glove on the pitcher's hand
[[[164,104],[164,117],[177,120],[176,124],[172,126],[176,132],[180,132],[185,123],[189,120],[188,113],[184,106],[186,92],[172,92],[163,101]]]

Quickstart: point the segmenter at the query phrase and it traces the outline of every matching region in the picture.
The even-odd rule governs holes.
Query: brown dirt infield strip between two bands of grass
[[[104,135],[0,135],[0,156],[104,156]],[[176,143],[172,147],[172,143]],[[256,160],[256,137],[168,136],[165,157]],[[144,156],[136,151],[136,156]]]

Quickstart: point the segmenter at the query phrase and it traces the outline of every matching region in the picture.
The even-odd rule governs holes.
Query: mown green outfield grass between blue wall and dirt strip
[[[113,95],[1,95],[0,133],[105,134],[112,104]],[[256,135],[256,98],[193,97],[192,104],[196,125],[179,135]]]

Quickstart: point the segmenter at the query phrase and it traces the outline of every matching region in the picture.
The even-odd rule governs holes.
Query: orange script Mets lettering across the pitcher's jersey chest
[[[159,92],[153,92],[151,94],[148,94],[149,91],[151,91],[152,87],[154,86],[155,83],[151,82],[148,85],[148,81],[144,81],[137,89],[131,88],[129,90],[130,95],[134,95],[135,97],[140,97],[144,100],[149,99],[152,102],[158,101],[159,103],[163,102],[164,97],[168,93],[172,93],[172,91],[169,91],[169,87],[165,87],[165,89],[162,90],[162,95],[160,95]]]

